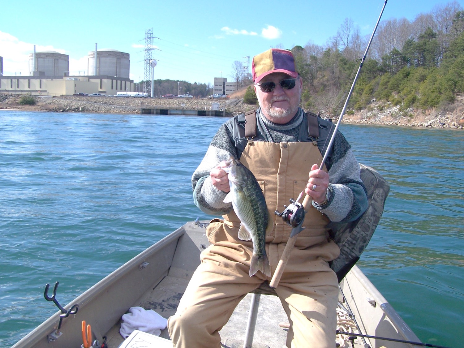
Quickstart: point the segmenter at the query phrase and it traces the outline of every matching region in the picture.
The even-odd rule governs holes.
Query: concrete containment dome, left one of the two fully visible
[[[56,51],[29,54],[29,75],[64,76],[69,74],[69,56]]]

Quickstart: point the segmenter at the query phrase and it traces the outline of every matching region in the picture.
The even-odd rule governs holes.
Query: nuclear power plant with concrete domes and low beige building
[[[97,50],[96,44],[87,61],[87,75],[70,76],[67,54],[36,52],[34,45],[29,54],[28,76],[2,76],[3,58],[0,57],[0,93],[69,96],[79,93],[116,95],[121,91],[134,91],[134,81],[129,79],[129,53]]]

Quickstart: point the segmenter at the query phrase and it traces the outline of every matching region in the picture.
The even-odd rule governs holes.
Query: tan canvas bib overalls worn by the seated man
[[[266,235],[273,273],[291,231],[274,211],[282,211],[290,198],[296,199],[308,182],[311,165],[321,161],[321,154],[311,142],[252,142],[240,161],[256,176],[269,213],[275,216],[274,229]],[[311,206],[303,224],[306,228],[296,239],[276,289],[290,321],[287,347],[335,347],[338,282],[328,262],[340,249],[329,239],[327,223],[328,219]],[[214,219],[208,226],[206,235],[212,245],[201,253],[201,264],[176,314],[168,320],[174,347],[219,348],[218,331],[237,304],[263,281],[270,280],[259,271],[249,276],[253,246],[251,241],[238,239],[239,224],[232,211],[224,215],[224,222]]]

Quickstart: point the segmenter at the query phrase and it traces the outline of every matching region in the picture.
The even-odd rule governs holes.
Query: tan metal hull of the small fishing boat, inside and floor
[[[209,244],[205,226],[206,222],[188,222],[66,305],[65,309],[73,305],[79,308],[76,314],[63,319],[59,329],[61,335],[58,338],[54,339],[54,336],[58,336],[56,332],[60,312],[48,318],[13,348],[79,348],[82,344],[83,320],[91,323],[94,339],[101,344],[103,336],[106,336],[108,347],[116,348],[123,342],[118,332],[121,316],[127,313],[130,307],[154,309],[165,318],[173,315],[193,271],[200,264],[200,252]],[[354,266],[348,273],[341,287],[345,295],[343,301],[353,310],[363,333],[419,342],[417,336],[358,267]],[[245,330],[242,329],[247,321],[250,296],[246,296],[239,304],[232,315],[230,325],[228,323],[221,331],[223,342],[243,342]],[[272,313],[261,315],[260,318],[274,316],[278,321],[287,320],[277,296],[264,297],[260,310]],[[264,331],[270,334],[263,334]],[[285,343],[285,336],[286,332],[278,327],[278,322],[271,325],[269,321],[258,320],[255,342],[271,348],[280,348]],[[161,331],[161,337],[169,338],[166,329]],[[417,347],[374,340],[369,343],[371,347]]]

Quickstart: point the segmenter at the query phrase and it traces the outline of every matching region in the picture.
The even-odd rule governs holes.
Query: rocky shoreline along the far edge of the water
[[[242,98],[227,99],[164,99],[164,98],[121,98],[121,97],[37,97],[36,105],[20,105],[18,95],[0,95],[0,110],[28,110],[54,112],[86,112],[139,114],[141,108],[210,110],[213,103],[219,103],[226,116],[234,116],[253,109],[253,105],[243,103]],[[324,115],[322,117],[329,117]],[[371,103],[366,110],[348,112],[344,123],[396,125],[427,128],[464,128],[463,96],[442,110],[400,110],[399,106],[388,103]]]

